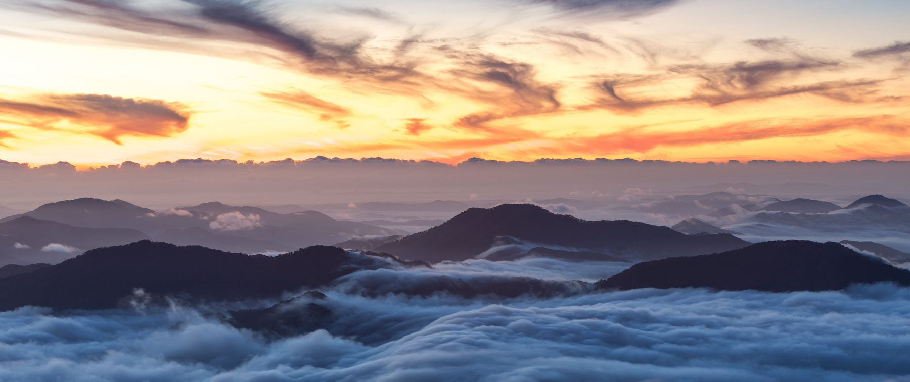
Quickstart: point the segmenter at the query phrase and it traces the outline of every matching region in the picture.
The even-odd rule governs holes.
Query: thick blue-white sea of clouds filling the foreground
[[[0,380],[910,381],[907,287],[514,298],[352,287],[550,268],[551,280],[579,280],[623,267],[525,258],[361,271],[320,289],[327,327],[279,339],[177,300],[141,311],[23,307],[0,312]]]

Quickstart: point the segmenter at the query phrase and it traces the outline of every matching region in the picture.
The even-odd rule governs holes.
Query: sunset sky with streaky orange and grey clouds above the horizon
[[[6,0],[0,159],[910,160],[901,0]]]

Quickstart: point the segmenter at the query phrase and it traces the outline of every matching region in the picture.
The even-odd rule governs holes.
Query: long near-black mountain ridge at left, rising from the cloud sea
[[[0,279],[0,310],[26,305],[112,308],[134,296],[134,288],[153,297],[178,295],[187,300],[275,298],[388,264],[335,246],[264,256],[142,240],[93,249],[56,266]]]

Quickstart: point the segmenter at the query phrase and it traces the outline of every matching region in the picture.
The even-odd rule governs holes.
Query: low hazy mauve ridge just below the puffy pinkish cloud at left
[[[267,252],[290,252],[294,248],[274,240],[257,240],[248,237],[216,234],[206,228],[197,226],[189,228],[168,229],[155,236],[155,240],[177,246],[207,246],[225,252],[243,252],[245,254]]]

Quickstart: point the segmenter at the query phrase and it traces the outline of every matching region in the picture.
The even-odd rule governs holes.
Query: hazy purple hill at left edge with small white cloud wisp
[[[85,228],[31,216],[0,223],[0,247],[29,264],[59,263],[87,249],[118,246],[147,238],[135,229]]]

